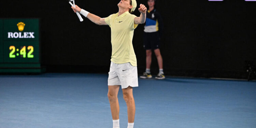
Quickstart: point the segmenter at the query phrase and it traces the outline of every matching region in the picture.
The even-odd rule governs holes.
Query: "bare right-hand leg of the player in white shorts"
[[[133,99],[132,87],[129,86],[128,88],[125,88],[122,90],[123,90],[124,100],[127,105],[128,123],[133,123],[134,117],[135,117],[135,102]]]

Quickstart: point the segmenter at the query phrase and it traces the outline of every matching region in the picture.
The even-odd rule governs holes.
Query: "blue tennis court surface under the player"
[[[0,128],[112,128],[108,74],[0,75]],[[133,88],[135,128],[255,128],[256,82],[167,77]],[[120,128],[127,127],[122,96]]]

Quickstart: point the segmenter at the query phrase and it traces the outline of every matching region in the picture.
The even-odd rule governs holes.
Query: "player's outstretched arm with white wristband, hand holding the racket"
[[[105,22],[105,18],[101,18],[99,16],[91,14],[91,13],[79,8],[79,6],[77,6],[77,5],[75,5],[75,8],[73,6],[71,6],[71,8],[73,9],[74,12],[79,12],[80,14],[84,15],[85,17],[87,17],[89,20],[91,20],[93,23],[95,23],[97,25],[108,25]]]

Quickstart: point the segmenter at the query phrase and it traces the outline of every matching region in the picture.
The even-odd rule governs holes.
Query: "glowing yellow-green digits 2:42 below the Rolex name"
[[[9,57],[10,58],[15,58],[16,56],[20,56],[23,58],[34,58],[33,52],[34,52],[34,47],[33,46],[21,46],[20,49],[16,49],[15,46],[10,46],[10,54]],[[28,53],[27,53],[28,50]],[[17,52],[15,54],[15,52]]]

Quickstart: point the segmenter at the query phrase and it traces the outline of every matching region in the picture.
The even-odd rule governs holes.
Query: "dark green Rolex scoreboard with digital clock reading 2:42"
[[[39,73],[39,19],[0,19],[0,73]]]

